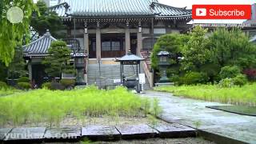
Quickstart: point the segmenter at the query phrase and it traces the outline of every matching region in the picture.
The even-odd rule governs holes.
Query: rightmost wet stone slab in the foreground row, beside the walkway
[[[196,130],[188,126],[182,126],[178,123],[158,124],[157,126],[153,127],[155,130],[158,130],[160,138],[196,137]]]

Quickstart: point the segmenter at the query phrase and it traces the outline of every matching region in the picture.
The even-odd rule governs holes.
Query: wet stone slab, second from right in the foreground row
[[[147,125],[134,125],[134,126],[116,126],[118,131],[121,133],[123,139],[144,139],[154,138],[158,131],[154,130]]]

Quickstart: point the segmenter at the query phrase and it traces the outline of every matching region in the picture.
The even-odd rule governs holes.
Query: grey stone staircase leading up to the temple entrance
[[[120,64],[118,62],[114,62],[112,64],[88,64],[88,73],[87,79],[89,85],[97,85],[102,88],[114,89],[115,86],[120,84],[114,83],[114,79],[121,78],[121,69]],[[100,70],[99,70],[100,69]],[[144,73],[141,66],[141,73]],[[101,72],[101,73],[100,73]],[[136,74],[136,66],[124,66],[124,74],[126,77],[134,78]],[[146,84],[144,85],[144,90],[150,90],[150,84],[148,79],[146,78]]]

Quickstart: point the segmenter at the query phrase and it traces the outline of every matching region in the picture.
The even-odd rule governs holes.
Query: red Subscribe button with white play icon
[[[250,5],[193,5],[193,19],[250,19]]]

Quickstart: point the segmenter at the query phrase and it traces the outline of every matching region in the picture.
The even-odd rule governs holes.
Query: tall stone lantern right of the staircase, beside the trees
[[[162,71],[159,83],[170,82],[166,74],[167,66],[170,66],[170,63],[169,63],[170,53],[168,51],[160,51],[158,53],[158,58],[159,58],[158,65],[160,66],[160,70]]]

